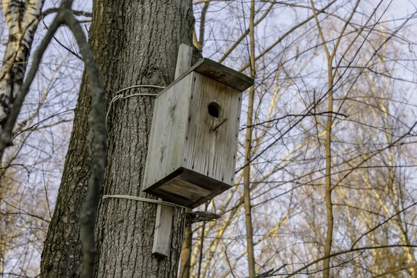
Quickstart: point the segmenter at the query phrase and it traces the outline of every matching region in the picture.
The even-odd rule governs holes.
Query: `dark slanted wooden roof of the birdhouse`
[[[170,85],[167,85],[167,87],[158,94],[158,97],[167,89],[172,87],[172,85],[190,74],[190,72],[198,72],[199,74],[239,90],[240,92],[243,92],[247,88],[250,88],[250,86],[254,85],[254,79],[250,78],[249,76],[241,74],[240,72],[237,72],[230,67],[226,67],[225,65],[217,63],[208,58],[202,58],[198,60],[197,63],[193,65],[193,67],[190,67],[190,70],[181,74],[181,76],[175,79],[174,82],[170,83]]]

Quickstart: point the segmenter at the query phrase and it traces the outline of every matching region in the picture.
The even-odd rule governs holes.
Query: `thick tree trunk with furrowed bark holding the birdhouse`
[[[90,45],[101,70],[107,104],[131,85],[167,85],[174,79],[179,44],[192,42],[191,1],[95,0]],[[142,88],[125,91],[156,93]],[[142,193],[154,97],[115,102],[108,119],[108,166],[104,194]],[[74,130],[56,210],[42,255],[41,277],[79,274],[78,218],[90,176],[90,93],[83,78]],[[156,111],[157,113],[157,111]],[[176,208],[167,259],[152,255],[156,204],[126,199],[101,202],[97,219],[97,277],[176,277],[184,212]]]

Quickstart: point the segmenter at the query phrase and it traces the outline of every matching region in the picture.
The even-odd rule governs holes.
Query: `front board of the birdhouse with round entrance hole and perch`
[[[242,92],[196,72],[193,76],[183,167],[233,185]],[[220,105],[219,117],[208,113],[212,102]],[[227,121],[213,131],[213,126],[224,118]]]

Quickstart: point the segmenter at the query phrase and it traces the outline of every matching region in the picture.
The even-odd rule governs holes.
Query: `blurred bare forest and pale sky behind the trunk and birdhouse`
[[[85,33],[91,5],[73,6]],[[33,49],[58,6],[45,1]],[[247,277],[251,265],[259,277],[416,277],[417,3],[193,8],[195,47],[255,85],[244,93],[236,184],[198,208],[221,218],[188,227],[181,277]],[[2,58],[9,32],[1,13]],[[0,276],[39,275],[82,74],[62,27],[1,161]]]

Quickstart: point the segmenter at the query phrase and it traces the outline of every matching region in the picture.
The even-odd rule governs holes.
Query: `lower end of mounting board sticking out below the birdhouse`
[[[152,254],[159,256],[170,254],[172,215],[174,215],[174,206],[158,204]]]

